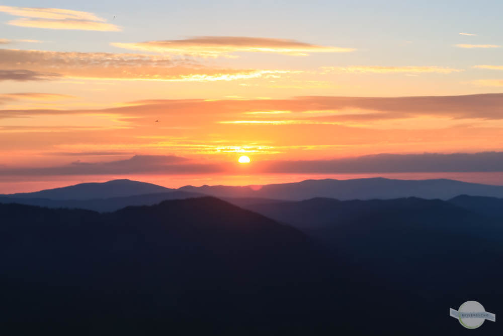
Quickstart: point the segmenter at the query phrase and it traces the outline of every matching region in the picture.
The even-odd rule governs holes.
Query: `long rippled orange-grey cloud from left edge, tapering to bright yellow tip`
[[[26,67],[41,73],[57,72],[70,78],[172,82],[231,81],[297,73],[288,70],[212,68],[190,59],[144,54],[17,49],[0,49],[0,67]]]

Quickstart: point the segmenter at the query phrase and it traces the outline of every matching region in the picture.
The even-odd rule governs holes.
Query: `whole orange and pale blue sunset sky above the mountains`
[[[114,178],[503,184],[502,11],[4,1],[0,193]]]

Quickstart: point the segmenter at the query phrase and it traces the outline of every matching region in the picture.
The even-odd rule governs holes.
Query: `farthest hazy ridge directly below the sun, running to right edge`
[[[313,197],[348,199],[392,199],[420,197],[449,199],[461,194],[503,197],[503,186],[467,183],[448,179],[396,180],[362,178],[351,180],[306,180],[297,183],[254,186],[184,186],[179,190],[200,192],[215,197],[272,198],[303,200]]]

